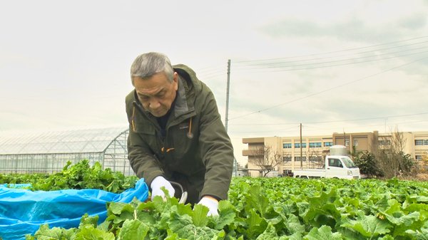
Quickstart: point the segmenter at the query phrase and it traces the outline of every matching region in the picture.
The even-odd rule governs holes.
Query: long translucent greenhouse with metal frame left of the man
[[[0,173],[61,172],[68,161],[100,162],[132,175],[127,127],[105,127],[0,135]]]

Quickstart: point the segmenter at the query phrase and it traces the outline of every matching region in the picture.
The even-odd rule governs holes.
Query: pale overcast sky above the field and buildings
[[[243,137],[428,131],[428,1],[3,1],[0,134],[127,127],[131,63],[158,51]]]

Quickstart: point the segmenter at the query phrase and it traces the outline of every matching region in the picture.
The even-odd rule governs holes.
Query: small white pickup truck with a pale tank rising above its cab
[[[323,168],[295,169],[294,177],[302,178],[343,178],[360,179],[360,169],[346,156],[346,148],[342,145],[330,147],[330,155],[325,157]]]

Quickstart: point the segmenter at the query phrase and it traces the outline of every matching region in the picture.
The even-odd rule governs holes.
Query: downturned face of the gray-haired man
[[[143,108],[159,118],[168,113],[173,104],[178,89],[178,75],[174,73],[172,83],[165,73],[156,73],[147,79],[133,77],[133,85]]]

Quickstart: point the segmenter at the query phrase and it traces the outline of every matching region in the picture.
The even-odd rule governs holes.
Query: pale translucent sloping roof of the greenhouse
[[[0,132],[0,155],[103,152],[128,127]]]

